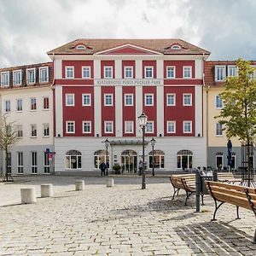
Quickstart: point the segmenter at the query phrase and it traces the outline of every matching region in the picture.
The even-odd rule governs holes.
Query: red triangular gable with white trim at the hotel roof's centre
[[[105,49],[97,52],[96,55],[161,55],[161,53],[133,44],[123,44],[112,49]]]

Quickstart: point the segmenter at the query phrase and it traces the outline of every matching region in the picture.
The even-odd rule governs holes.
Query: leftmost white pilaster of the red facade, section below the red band
[[[63,137],[62,86],[55,86],[55,131],[56,137]],[[65,101],[65,99],[64,99]]]

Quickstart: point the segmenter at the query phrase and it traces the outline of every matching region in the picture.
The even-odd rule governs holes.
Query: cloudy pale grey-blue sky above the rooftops
[[[209,60],[256,60],[255,0],[0,0],[0,67],[77,38],[181,38]]]

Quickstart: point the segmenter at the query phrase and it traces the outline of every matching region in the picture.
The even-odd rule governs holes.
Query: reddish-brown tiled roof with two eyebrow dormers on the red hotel
[[[85,49],[76,49],[82,44]],[[93,55],[107,49],[113,49],[124,44],[132,44],[144,49],[150,49],[165,55],[210,55],[210,52],[189,44],[181,39],[76,39],[47,52],[48,55]],[[181,49],[172,49],[178,44]]]

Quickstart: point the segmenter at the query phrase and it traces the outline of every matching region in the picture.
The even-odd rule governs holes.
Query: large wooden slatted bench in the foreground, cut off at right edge
[[[237,186],[230,183],[206,181],[207,189],[215,202],[215,211],[212,220],[216,220],[216,212],[224,203],[236,206],[236,218],[239,219],[239,207],[252,210],[256,217],[256,189]],[[219,204],[218,204],[219,202]],[[253,236],[256,243],[256,230]]]

